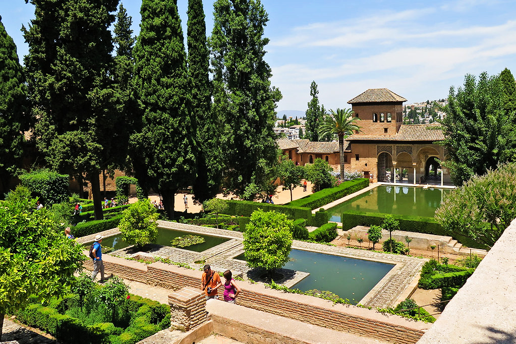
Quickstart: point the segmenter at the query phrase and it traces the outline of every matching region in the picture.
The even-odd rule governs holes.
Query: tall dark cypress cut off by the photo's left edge
[[[23,155],[27,89],[13,39],[0,17],[0,190],[7,193]]]

